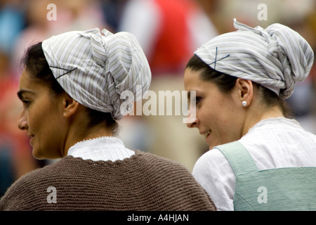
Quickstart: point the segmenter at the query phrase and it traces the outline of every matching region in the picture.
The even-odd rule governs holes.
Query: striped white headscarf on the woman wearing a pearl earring
[[[314,53],[298,32],[279,23],[266,29],[249,27],[234,19],[235,32],[214,37],[195,55],[213,70],[249,79],[281,98],[294,92],[294,84],[309,74]]]

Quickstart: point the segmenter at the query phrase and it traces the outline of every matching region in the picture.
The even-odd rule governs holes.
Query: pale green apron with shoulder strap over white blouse
[[[316,210],[316,167],[258,170],[239,141],[216,148],[236,175],[234,210]]]

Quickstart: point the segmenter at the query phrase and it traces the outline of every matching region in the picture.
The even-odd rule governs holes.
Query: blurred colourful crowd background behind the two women
[[[55,4],[56,11],[48,4]],[[282,23],[315,49],[315,7],[316,0],[0,0],[0,197],[23,174],[53,163],[34,159],[25,131],[17,127],[20,58],[31,44],[94,27],[131,32],[149,60],[150,89],[158,96],[158,91],[184,90],[183,71],[193,51],[218,34],[235,31],[233,18],[252,27]],[[315,86],[314,66],[288,100],[296,120],[313,134]],[[209,148],[197,129],[186,127],[184,117],[128,115],[119,121],[119,137],[127,148],[161,155],[192,171]]]

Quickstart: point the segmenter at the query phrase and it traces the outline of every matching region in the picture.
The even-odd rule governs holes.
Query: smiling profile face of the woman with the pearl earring
[[[202,80],[200,72],[190,68],[185,70],[184,86],[188,92],[196,91],[196,118],[187,127],[199,129],[210,149],[241,138],[242,104],[235,97],[235,89],[223,94],[216,84]]]

